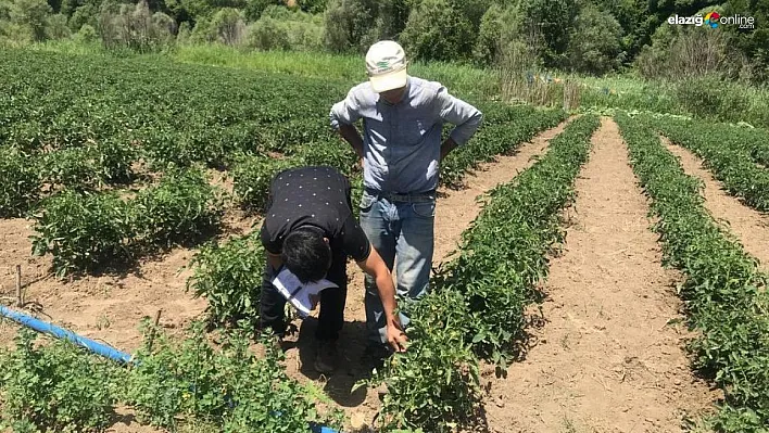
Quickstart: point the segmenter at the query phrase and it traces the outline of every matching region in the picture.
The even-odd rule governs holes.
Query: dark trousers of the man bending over
[[[275,273],[267,264],[262,278],[261,322],[262,329],[272,328],[279,335],[286,332],[286,298],[273,285]],[[339,285],[339,289],[326,289],[320,292],[320,316],[315,338],[323,341],[338,340],[344,324],[344,304],[348,297],[346,255],[333,252],[331,268],[326,279]]]

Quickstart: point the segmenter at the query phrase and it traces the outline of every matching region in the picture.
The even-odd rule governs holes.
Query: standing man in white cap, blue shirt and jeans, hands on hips
[[[482,114],[438,82],[408,76],[400,44],[384,40],[366,54],[369,80],[331,107],[331,127],[363,158],[361,227],[392,270],[398,294],[416,300],[428,290],[440,162],[478,130]],[[354,124],[363,119],[363,137]],[[443,124],[456,125],[441,142]],[[366,278],[369,357],[386,356],[386,315],[377,284]],[[407,318],[401,317],[405,326]]]

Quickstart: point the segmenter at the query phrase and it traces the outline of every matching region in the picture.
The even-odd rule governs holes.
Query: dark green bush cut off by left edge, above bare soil
[[[0,217],[21,216],[37,200],[40,177],[30,156],[0,148]]]

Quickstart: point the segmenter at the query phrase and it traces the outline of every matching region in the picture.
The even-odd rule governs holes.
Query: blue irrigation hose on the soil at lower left
[[[31,316],[25,315],[23,313],[14,311],[3,305],[0,305],[0,316],[7,317],[18,324],[23,324],[27,328],[31,328],[35,331],[42,332],[45,334],[53,335],[56,339],[66,340],[78,346],[83,346],[97,355],[101,355],[105,358],[110,358],[114,361],[121,364],[128,364],[131,360],[131,356],[124,352],[121,352],[114,347],[108,346],[105,344],[96,342],[91,339],[86,339],[80,336],[70,330],[56,327],[55,324],[36,319]],[[327,428],[325,425],[311,424],[310,430],[312,433],[341,433],[337,430]]]

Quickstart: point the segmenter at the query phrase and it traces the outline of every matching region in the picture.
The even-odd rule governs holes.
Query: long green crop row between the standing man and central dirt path
[[[572,122],[547,154],[495,189],[463,233],[458,255],[433,278],[432,293],[405,304],[409,346],[369,384],[388,393],[382,431],[453,432],[477,420],[478,357],[504,369],[524,338],[524,308],[537,301],[547,255],[563,241],[559,212],[588,158],[595,116]]]

